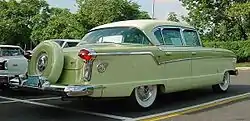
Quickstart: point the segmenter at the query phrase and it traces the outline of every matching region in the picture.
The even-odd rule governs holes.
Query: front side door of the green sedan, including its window
[[[217,73],[215,65],[217,59],[213,58],[215,54],[211,49],[202,47],[199,35],[196,30],[184,29],[183,37],[186,46],[192,50],[192,76],[197,86],[213,84]]]

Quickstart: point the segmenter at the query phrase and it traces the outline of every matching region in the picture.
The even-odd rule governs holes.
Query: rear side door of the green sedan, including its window
[[[191,51],[184,46],[184,40],[179,27],[160,27],[154,35],[161,43],[159,49],[165,52],[161,57],[167,75],[167,90],[176,91],[190,88]]]

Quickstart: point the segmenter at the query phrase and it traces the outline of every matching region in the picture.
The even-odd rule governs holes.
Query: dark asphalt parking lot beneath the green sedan
[[[171,93],[160,96],[156,106],[150,110],[136,110],[133,107],[124,105],[124,100],[111,101],[88,101],[71,102],[61,101],[60,97],[53,95],[43,95],[39,93],[1,91],[0,92],[0,116],[2,120],[122,120],[138,118],[162,112],[177,110],[190,107],[217,99],[231,97],[250,92],[250,71],[240,71],[240,75],[232,79],[232,86],[228,93],[216,94],[211,88],[196,89],[178,93]],[[189,113],[171,120],[192,120],[192,121],[210,121],[210,120],[241,120],[248,118],[248,115],[241,117],[240,112],[249,109],[244,105],[250,105],[249,101],[227,104],[206,109],[195,113]],[[233,108],[234,107],[234,108]],[[236,109],[235,109],[236,107]],[[242,107],[242,108],[240,108]],[[247,112],[247,111],[245,111]],[[220,115],[221,114],[221,115]],[[229,115],[231,114],[231,115]],[[225,117],[227,116],[227,117]],[[235,116],[235,117],[228,117]],[[196,119],[197,117],[197,119]],[[215,117],[214,119],[212,117]],[[205,120],[207,119],[207,120]],[[248,118],[249,119],[249,118]],[[170,119],[166,119],[170,120]]]

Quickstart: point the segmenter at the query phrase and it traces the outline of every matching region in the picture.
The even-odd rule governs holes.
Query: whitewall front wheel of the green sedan
[[[231,82],[231,77],[229,72],[225,72],[223,77],[223,82],[217,85],[213,85],[212,88],[214,92],[227,92]]]

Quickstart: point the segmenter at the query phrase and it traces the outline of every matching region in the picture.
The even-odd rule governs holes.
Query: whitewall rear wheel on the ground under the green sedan
[[[150,108],[157,97],[157,85],[136,87],[131,95],[131,103],[139,108]]]

